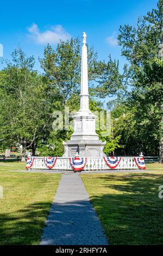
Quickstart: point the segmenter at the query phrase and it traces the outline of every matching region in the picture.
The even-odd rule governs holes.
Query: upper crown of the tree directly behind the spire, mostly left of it
[[[96,77],[95,64],[97,53],[88,47],[89,80]],[[40,59],[45,71],[51,93],[58,95],[65,105],[80,90],[81,54],[79,39],[60,41],[56,50],[52,46],[45,47],[44,58]]]

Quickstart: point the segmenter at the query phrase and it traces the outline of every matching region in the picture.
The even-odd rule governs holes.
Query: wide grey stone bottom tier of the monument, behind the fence
[[[103,148],[106,142],[102,142],[99,140],[92,140],[92,139],[83,139],[83,140],[70,140],[67,142],[63,142],[65,153],[63,157],[74,157],[76,153],[79,156],[85,157],[100,157],[105,156],[103,153]]]

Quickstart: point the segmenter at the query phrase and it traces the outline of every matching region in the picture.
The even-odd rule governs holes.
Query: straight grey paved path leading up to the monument
[[[40,245],[107,245],[78,173],[63,174]]]

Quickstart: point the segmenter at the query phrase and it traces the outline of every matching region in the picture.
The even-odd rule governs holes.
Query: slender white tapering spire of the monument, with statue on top
[[[86,34],[83,32],[80,111],[89,111]],[[90,111],[89,111],[90,112]]]

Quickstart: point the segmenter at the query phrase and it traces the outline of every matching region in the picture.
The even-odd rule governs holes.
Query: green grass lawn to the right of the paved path
[[[151,167],[151,165],[149,166]],[[82,175],[111,245],[163,245],[163,172]]]

